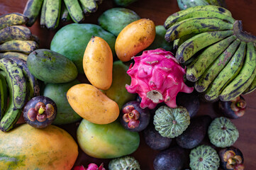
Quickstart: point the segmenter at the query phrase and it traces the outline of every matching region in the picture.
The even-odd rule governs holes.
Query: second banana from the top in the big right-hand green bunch
[[[226,23],[218,18],[189,18],[168,28],[165,34],[165,40],[167,40],[167,42],[172,42],[173,40],[182,38],[191,33],[232,29],[233,24]]]

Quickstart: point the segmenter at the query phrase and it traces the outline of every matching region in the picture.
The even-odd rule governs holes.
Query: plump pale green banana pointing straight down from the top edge
[[[45,26],[54,30],[59,26],[61,0],[48,0],[45,9]]]

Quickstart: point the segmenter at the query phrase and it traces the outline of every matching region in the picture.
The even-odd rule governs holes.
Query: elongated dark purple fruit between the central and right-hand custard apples
[[[204,140],[211,120],[209,115],[192,118],[189,127],[176,137],[177,145],[186,149],[197,147]]]

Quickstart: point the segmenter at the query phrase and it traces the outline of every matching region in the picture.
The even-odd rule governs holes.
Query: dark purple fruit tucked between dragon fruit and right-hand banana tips
[[[200,100],[199,94],[196,91],[191,94],[179,93],[177,95],[176,101],[177,106],[183,106],[184,108],[187,108],[190,118],[193,118],[199,111]]]

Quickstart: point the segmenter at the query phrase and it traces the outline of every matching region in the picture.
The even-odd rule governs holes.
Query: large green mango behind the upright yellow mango
[[[74,62],[78,72],[84,74],[84,51],[92,35],[106,40],[113,54],[116,54],[114,50],[116,37],[100,26],[89,23],[72,23],[58,30],[52,38],[50,50],[65,55]]]

